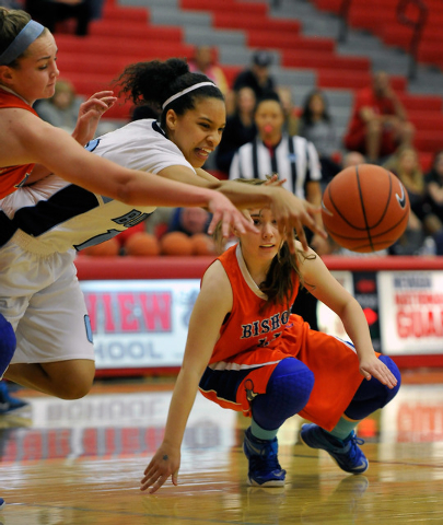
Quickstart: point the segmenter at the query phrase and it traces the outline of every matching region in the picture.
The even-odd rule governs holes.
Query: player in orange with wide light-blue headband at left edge
[[[82,105],[73,132],[75,140],[38,118],[32,105],[36,100],[54,94],[59,75],[56,59],[57,46],[46,28],[32,21],[24,11],[0,8],[0,197],[22,186],[28,189],[32,183],[56,173],[69,183],[131,207],[206,206],[213,213],[214,221],[222,219],[225,233],[230,225],[249,229],[244,217],[221,191],[213,191],[221,186],[214,179],[200,185],[206,187],[194,185],[190,188],[155,177],[148,170],[136,172],[130,162],[127,167],[123,163],[118,166],[100,159],[106,155],[91,155],[85,151],[82,145],[93,137],[101,115],[116,101],[112,92],[97,93]],[[175,178],[179,179],[180,175],[176,174]],[[263,202],[277,200],[273,196],[278,191],[281,195],[281,189],[269,188],[268,192],[263,191],[256,198]],[[291,209],[285,206],[283,211],[288,224],[313,224],[311,215],[314,211],[304,201],[292,201],[291,205]],[[11,215],[0,214],[2,232],[11,232],[10,219]],[[15,347],[11,325],[1,316],[5,311],[5,305],[0,303],[0,375]]]

